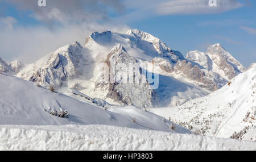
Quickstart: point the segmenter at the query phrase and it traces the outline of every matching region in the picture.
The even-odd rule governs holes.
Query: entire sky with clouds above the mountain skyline
[[[183,55],[220,43],[249,67],[256,62],[256,1],[216,1],[46,0],[39,7],[37,0],[0,0],[0,57],[30,62],[94,30],[138,28]]]

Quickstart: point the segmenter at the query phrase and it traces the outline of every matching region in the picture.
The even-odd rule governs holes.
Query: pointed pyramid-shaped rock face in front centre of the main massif
[[[138,77],[138,75],[140,75],[139,77],[141,80],[142,77],[146,77],[141,75],[141,70],[134,69],[137,70],[134,72],[129,72],[129,70],[127,70],[127,73],[124,73],[125,71],[123,71],[124,68],[128,69],[129,64],[134,65],[137,62],[138,61],[134,57],[131,57],[127,53],[121,44],[116,45],[104,61],[104,63],[108,65],[109,81],[100,82],[104,76],[104,72],[102,72],[96,82],[96,89],[102,89],[103,91],[108,90],[106,97],[112,98],[114,101],[121,102],[125,105],[135,105],[137,107],[157,105],[159,98],[155,90],[150,89],[150,84],[147,82],[135,82],[135,77]],[[124,67],[116,68],[115,65],[118,64],[122,64]],[[122,73],[121,77],[115,75],[119,72]],[[133,76],[134,78],[132,83],[128,81],[129,76]],[[112,79],[114,79],[113,82],[111,81]]]

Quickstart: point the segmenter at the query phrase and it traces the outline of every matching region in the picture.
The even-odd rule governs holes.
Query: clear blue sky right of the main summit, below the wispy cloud
[[[256,62],[256,1],[251,6],[205,15],[156,15],[127,23],[154,34],[183,55],[220,43],[245,67]],[[254,29],[253,32],[246,28]]]

